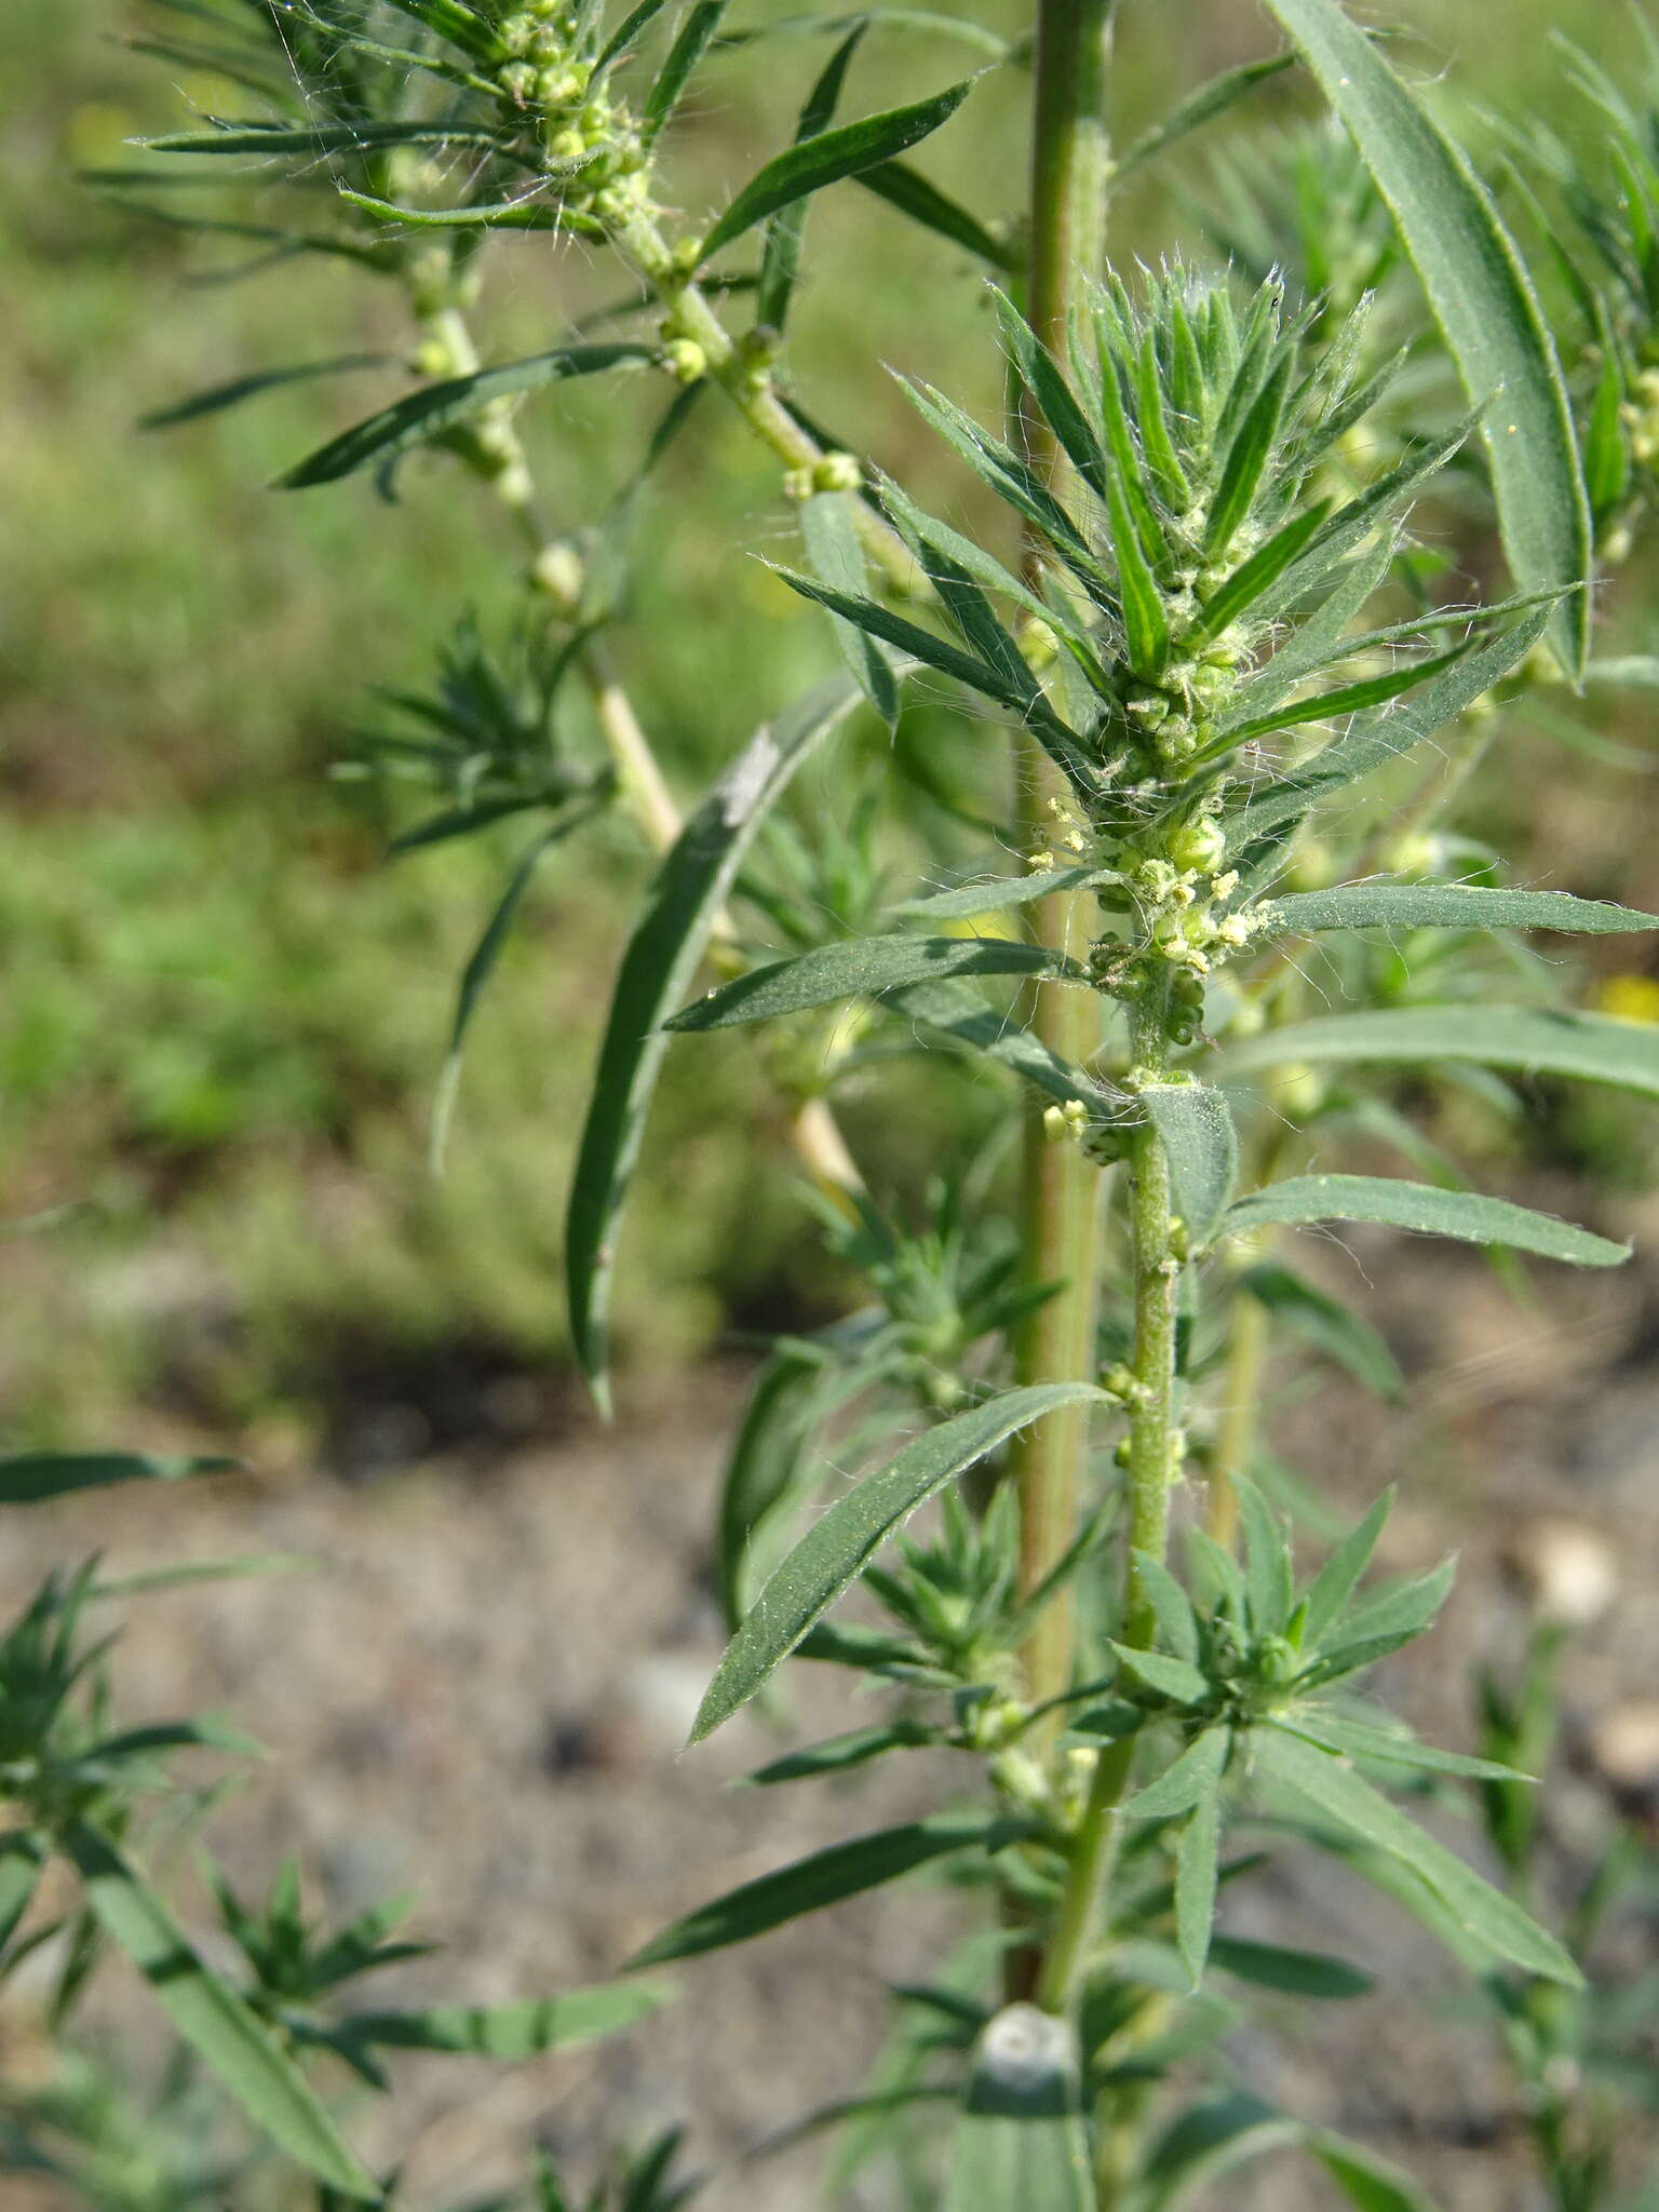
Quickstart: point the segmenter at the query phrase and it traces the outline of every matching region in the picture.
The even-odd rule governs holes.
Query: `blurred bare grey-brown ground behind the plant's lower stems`
[[[1659,1219],[1646,1230],[1659,1250]],[[1540,1272],[1520,1307],[1478,1254],[1354,1250],[1369,1312],[1416,1378],[1416,1411],[1380,1422],[1332,1387],[1287,1398],[1276,1436],[1343,1511],[1400,1480],[1387,1566],[1462,1551],[1442,1632],[1394,1666],[1402,1710],[1444,1743],[1471,1741],[1467,1668],[1520,1646],[1502,1555],[1531,1520],[1568,1513],[1615,1546],[1617,1601],[1571,1659],[1551,1812],[1562,1865],[1582,1865],[1608,1814],[1593,1725],[1659,1679],[1659,1267]],[[1338,1248],[1318,1263],[1354,1281]],[[929,1807],[949,1781],[949,1763],[907,1759],[812,1790],[734,1790],[779,1745],[750,1717],[679,1756],[719,1652],[703,1531],[737,1389],[737,1371],[717,1371],[615,1431],[575,1420],[489,1462],[349,1482],[252,1473],[13,1515],[0,1599],[15,1604],[49,1564],[93,1546],[119,1573],[246,1551],[316,1559],[310,1575],[131,1601],[126,1717],[210,1705],[270,1745],[215,1818],[239,1887],[259,1889],[299,1851],[314,1898],[338,1911],[420,1891],[416,1929],[445,1951],[398,1969],[376,2002],[549,1995],[608,1975],[723,1887]],[[792,1697],[799,1741],[847,1725],[836,1681],[796,1668]],[[199,1898],[188,1860],[173,1878],[186,1902]],[[1241,1885],[1228,1911],[1237,1933],[1323,1942],[1385,1975],[1378,1995],[1318,2008],[1312,2033],[1305,2008],[1270,2006],[1265,2031],[1230,2051],[1245,2084],[1389,2150],[1449,2212],[1542,2203],[1467,1993],[1402,1913],[1303,1860]],[[958,1900],[902,1887],[688,1969],[681,2002],[622,2044],[507,2073],[414,2062],[389,2108],[363,2110],[358,2139],[372,2157],[405,2154],[407,2201],[425,2212],[518,2179],[535,2137],[582,2172],[606,2135],[692,2117],[695,2157],[714,2172],[710,2212],[796,2212],[814,2201],[814,2157],[743,2154],[856,2093],[883,2031],[883,1982],[918,1975],[960,1920]],[[1610,1944],[1628,1973],[1659,1960],[1659,1924],[1626,1916]],[[1312,2212],[1334,2201],[1327,2188],[1285,2159],[1212,2201]]]

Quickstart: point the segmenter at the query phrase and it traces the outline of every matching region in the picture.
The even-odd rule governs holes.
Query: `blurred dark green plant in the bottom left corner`
[[[24,1453],[0,1460],[0,1502],[35,1504],[117,1482],[179,1482],[223,1473],[215,1460],[135,1453]],[[228,1562],[217,1573],[248,1573]],[[115,1712],[117,1635],[108,1610],[135,1588],[192,1582],[201,1566],[106,1579],[91,1559],[51,1575],[0,1635],[0,1984],[13,2006],[27,1971],[51,2053],[38,2081],[0,2084],[0,2172],[55,2179],[97,2212],[184,2212],[228,2201],[294,2201],[314,2177],[319,2205],[385,2201],[349,2148],[332,2106],[345,2081],[385,2093],[398,2051],[522,2062],[611,2035],[666,1997],[635,1982],[568,1991],[533,2004],[372,2008],[358,1984],[429,1944],[394,1931],[407,1898],[387,1898],[338,1927],[303,1905],[285,1865],[263,1905],[212,1869],[219,1927],[192,1938],[146,1860],[199,1829],[223,1783],[175,1774],[186,1754],[223,1763],[257,1752],[221,1721],[126,1725]],[[82,2039],[82,2006],[111,1960],[124,1958],[166,2017],[166,2059],[111,2057]],[[22,2026],[22,2015],[20,2015]],[[672,2146],[637,2197],[666,2212]],[[644,2172],[644,2168],[641,2168]],[[279,2194],[272,2199],[272,2174]],[[544,2201],[557,2201],[544,2174]],[[626,2199],[635,2203],[635,2199]]]

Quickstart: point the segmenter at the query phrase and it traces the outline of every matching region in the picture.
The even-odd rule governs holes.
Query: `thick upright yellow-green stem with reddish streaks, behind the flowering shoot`
[[[1037,0],[1037,53],[1031,157],[1031,274],[1026,314],[1042,343],[1066,358],[1066,323],[1084,281],[1097,272],[1106,230],[1106,53],[1113,0]],[[1024,420],[1031,458],[1057,473],[1053,436]],[[1033,741],[1020,745],[1020,803],[1026,843],[1048,825],[1048,801],[1066,785]],[[1093,896],[1046,898],[1033,931],[1073,958],[1088,949]],[[1040,984],[1031,1026],[1062,1060],[1084,1066],[1099,1044],[1099,1002],[1091,991]],[[1073,1144],[1048,1144],[1033,1117],[1024,1146],[1022,1250],[1031,1283],[1055,1294],[1024,1327],[1022,1383],[1073,1383],[1095,1371],[1099,1276],[1099,1170]],[[1088,1409],[1064,1407],[1026,1429],[1013,1453],[1020,1491],[1020,1575],[1035,1588],[1077,1526],[1077,1493]],[[1037,1617],[1024,1652],[1026,1692],[1060,1697],[1071,1681],[1073,1615],[1068,1595]]]

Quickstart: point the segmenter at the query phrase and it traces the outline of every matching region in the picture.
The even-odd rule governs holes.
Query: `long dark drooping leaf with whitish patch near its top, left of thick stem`
[[[661,1022],[686,998],[768,810],[856,706],[858,688],[832,677],[750,739],[657,869],[622,956],[564,1223],[571,1338],[602,1409],[615,1234],[668,1051]]]

